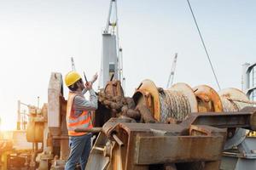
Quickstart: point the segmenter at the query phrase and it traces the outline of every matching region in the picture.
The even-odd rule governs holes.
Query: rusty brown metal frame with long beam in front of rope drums
[[[99,137],[101,142],[96,141],[89,162],[105,160],[105,164],[102,163],[105,169],[123,170],[146,170],[153,164],[168,163],[179,167],[201,165],[200,169],[218,169],[227,136],[226,129],[255,129],[255,117],[256,108],[245,108],[240,112],[193,113],[180,124],[172,125],[112,118],[102,127]],[[121,144],[117,144],[113,134]],[[99,147],[103,151],[98,150]],[[102,155],[105,147],[111,150],[108,159]]]

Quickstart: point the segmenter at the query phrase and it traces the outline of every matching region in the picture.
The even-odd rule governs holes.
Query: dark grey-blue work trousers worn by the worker
[[[81,169],[85,169],[90,155],[90,138],[91,133],[69,137],[70,153],[65,165],[65,170],[74,170],[78,162],[80,163]]]

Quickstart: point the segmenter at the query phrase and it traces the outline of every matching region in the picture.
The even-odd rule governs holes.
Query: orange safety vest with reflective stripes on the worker
[[[73,99],[79,94],[69,92],[67,99],[67,131],[69,136],[81,136],[86,133],[76,133],[74,130],[79,127],[91,128],[90,111],[83,111],[80,116],[74,116]]]

